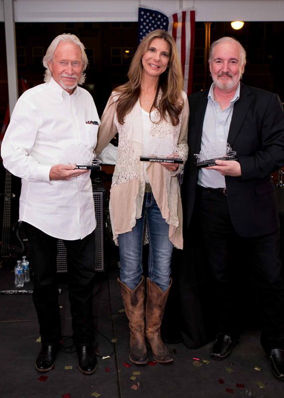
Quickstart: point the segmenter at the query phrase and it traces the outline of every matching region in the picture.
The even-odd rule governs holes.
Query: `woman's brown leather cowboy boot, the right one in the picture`
[[[165,312],[167,298],[172,285],[165,293],[154,282],[147,278],[146,299],[146,338],[148,339],[156,362],[165,363],[174,360],[160,335],[160,326]]]

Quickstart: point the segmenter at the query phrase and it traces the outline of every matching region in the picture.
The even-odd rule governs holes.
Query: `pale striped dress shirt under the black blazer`
[[[220,105],[214,100],[214,87],[212,83],[209,93],[206,112],[202,127],[201,148],[208,142],[228,139],[229,128],[232,120],[234,103],[240,98],[240,83],[237,87],[234,98],[230,101],[230,106],[221,111]],[[230,143],[229,143],[230,144]],[[198,185],[210,188],[226,188],[225,177],[216,170],[200,168],[198,174]]]

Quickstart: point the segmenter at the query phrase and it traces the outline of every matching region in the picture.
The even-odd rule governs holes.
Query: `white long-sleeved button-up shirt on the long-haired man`
[[[95,229],[90,173],[50,181],[64,150],[95,148],[99,122],[92,96],[77,87],[71,96],[53,79],[22,94],[5,133],[3,165],[22,179],[19,219],[60,239],[83,239]]]

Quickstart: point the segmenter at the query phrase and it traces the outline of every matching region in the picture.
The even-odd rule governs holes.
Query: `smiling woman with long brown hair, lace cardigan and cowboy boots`
[[[100,153],[118,131],[109,209],[120,253],[118,284],[129,319],[129,358],[136,364],[148,362],[146,334],[154,360],[165,363],[173,358],[161,339],[160,325],[172,284],[173,246],[183,248],[177,179],[183,164],[139,159],[153,138],[173,142],[175,155],[184,162],[188,156],[189,105],[177,47],[169,33],[155,30],[144,37],[128,78],[108,100],[95,152]],[[145,234],[149,241],[146,313],[141,261]]]

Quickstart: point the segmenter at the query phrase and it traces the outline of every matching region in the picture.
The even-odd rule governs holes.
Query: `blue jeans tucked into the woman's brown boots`
[[[142,216],[136,220],[132,231],[118,235],[120,280],[131,290],[134,290],[141,282],[145,216],[149,239],[148,276],[163,292],[166,292],[171,281],[173,244],[169,239],[169,224],[162,217],[152,193],[145,193]]]

